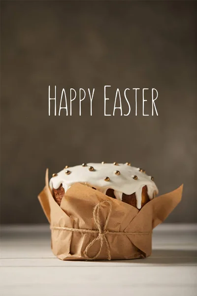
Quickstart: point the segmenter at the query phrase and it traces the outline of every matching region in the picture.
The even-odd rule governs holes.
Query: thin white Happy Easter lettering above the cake
[[[103,87],[103,115],[104,116],[115,116],[119,114],[120,116],[128,116],[133,114],[135,116],[158,116],[158,111],[156,108],[156,100],[158,99],[158,91],[156,88],[126,88],[124,91],[120,91],[119,88],[116,89],[114,97],[109,97],[107,94],[108,89],[111,85],[105,85]],[[73,101],[78,100],[79,104],[79,116],[82,115],[82,104],[83,101],[86,100],[89,102],[90,115],[93,115],[93,100],[95,95],[95,88],[83,89],[79,88],[75,90],[74,88],[70,88],[66,90],[63,88],[61,90],[60,98],[57,98],[57,87],[54,86],[53,90],[51,90],[51,86],[48,88],[48,115],[58,115],[58,116],[72,116],[72,105]],[[151,112],[148,114],[146,112],[146,99],[145,93],[151,92],[151,99],[149,103],[151,103]],[[110,111],[107,111],[107,104],[109,100],[113,101],[113,108]],[[134,101],[134,108],[131,109],[131,100]],[[138,100],[142,100],[142,110],[138,110]],[[123,112],[122,103],[126,101],[127,104],[127,112]]]

